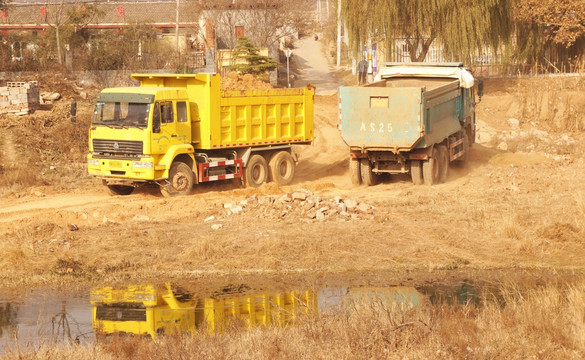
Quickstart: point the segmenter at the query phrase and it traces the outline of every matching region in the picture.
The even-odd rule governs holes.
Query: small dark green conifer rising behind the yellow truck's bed
[[[270,56],[260,55],[260,50],[245,37],[238,38],[232,56],[236,64],[230,69],[240,74],[261,75],[278,66]]]

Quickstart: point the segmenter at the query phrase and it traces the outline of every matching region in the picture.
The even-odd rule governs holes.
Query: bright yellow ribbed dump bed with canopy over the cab
[[[132,78],[143,87],[187,91],[196,149],[313,141],[312,88],[221,91],[215,74],[133,74]]]

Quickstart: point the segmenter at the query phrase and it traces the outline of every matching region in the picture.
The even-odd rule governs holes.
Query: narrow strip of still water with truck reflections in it
[[[324,287],[288,292],[220,294],[194,300],[176,291],[171,293],[172,290],[164,286],[120,289],[103,287],[93,289],[91,293],[46,289],[18,295],[0,293],[0,354],[17,346],[91,343],[96,339],[94,327],[101,328],[104,333],[141,332],[155,337],[177,328],[191,331],[206,326],[210,331],[221,331],[227,318],[238,318],[248,326],[286,325],[300,316],[357,309],[366,299],[376,299],[385,306],[404,304],[412,307],[429,303],[478,305],[480,302],[476,287],[465,282],[419,288]],[[177,300],[174,310],[169,305],[173,298]],[[96,319],[92,319],[93,310]],[[146,316],[146,313],[153,315]],[[142,325],[129,321],[137,319]]]

